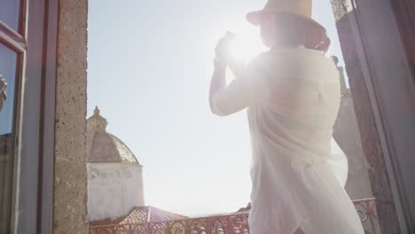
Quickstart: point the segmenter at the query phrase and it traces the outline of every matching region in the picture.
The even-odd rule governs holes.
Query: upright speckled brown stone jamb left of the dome
[[[88,233],[86,168],[87,0],[59,1],[54,233]]]

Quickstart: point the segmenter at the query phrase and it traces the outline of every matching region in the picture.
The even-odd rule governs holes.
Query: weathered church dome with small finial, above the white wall
[[[87,120],[87,162],[139,162],[120,138],[106,131],[108,122],[99,114],[98,107]]]

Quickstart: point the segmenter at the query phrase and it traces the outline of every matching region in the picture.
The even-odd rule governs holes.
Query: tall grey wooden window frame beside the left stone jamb
[[[18,30],[0,21],[0,43],[19,54],[11,233],[53,230],[58,7],[59,0],[20,0]]]

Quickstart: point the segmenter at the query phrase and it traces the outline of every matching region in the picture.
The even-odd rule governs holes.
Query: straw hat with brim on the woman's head
[[[316,24],[318,27],[323,27],[316,20],[311,19],[312,0],[268,0],[262,11],[248,13],[247,20],[257,26],[261,23],[263,14],[279,12],[295,14]]]

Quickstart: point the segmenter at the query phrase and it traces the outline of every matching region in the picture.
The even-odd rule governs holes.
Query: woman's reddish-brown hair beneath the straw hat
[[[325,34],[325,27],[291,13],[278,13],[274,17],[271,18],[276,20],[271,24],[274,30],[270,30],[274,34],[271,36],[274,45],[293,47],[302,44],[307,49],[328,51],[331,41]]]

